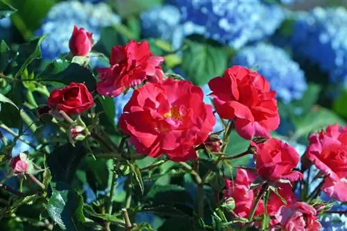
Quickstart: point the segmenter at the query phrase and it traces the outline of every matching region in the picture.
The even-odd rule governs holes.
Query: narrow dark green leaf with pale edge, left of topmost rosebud
[[[40,45],[46,36],[37,37],[30,42],[22,44],[18,49],[18,56],[16,58],[17,67],[19,68],[15,74],[15,78],[22,75],[24,69],[37,58],[41,58]]]

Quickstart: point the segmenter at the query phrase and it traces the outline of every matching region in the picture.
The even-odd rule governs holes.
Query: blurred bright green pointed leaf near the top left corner
[[[17,8],[17,12],[12,14],[12,23],[17,27],[26,40],[33,36],[33,31],[42,24],[42,19],[56,3],[55,0],[6,0]],[[73,28],[67,28],[72,32]]]

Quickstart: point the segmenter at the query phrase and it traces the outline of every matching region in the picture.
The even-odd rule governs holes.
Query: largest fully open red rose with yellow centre
[[[185,80],[169,78],[135,90],[124,107],[119,126],[130,135],[137,153],[171,160],[196,159],[194,146],[212,132],[212,106],[203,103],[203,91]]]

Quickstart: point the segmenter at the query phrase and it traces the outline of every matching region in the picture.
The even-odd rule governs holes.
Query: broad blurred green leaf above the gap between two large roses
[[[205,85],[223,74],[228,65],[228,54],[223,46],[186,40],[182,69],[195,85]]]

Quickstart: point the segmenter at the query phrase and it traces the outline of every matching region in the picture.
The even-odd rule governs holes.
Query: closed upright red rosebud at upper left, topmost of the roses
[[[92,33],[85,31],[84,28],[77,28],[74,26],[74,31],[69,40],[69,48],[71,53],[76,55],[85,56],[92,49]]]

